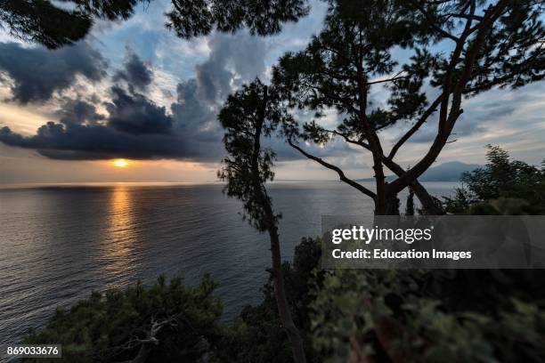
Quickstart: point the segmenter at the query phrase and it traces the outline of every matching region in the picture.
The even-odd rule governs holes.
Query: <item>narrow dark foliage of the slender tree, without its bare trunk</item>
[[[217,173],[227,181],[224,192],[244,203],[245,218],[257,230],[269,230],[280,217],[272,214],[271,199],[264,183],[272,181],[274,153],[263,148],[263,138],[270,137],[283,117],[286,117],[276,95],[267,85],[256,79],[231,94],[220,111],[218,119],[224,126],[224,146],[229,157]]]

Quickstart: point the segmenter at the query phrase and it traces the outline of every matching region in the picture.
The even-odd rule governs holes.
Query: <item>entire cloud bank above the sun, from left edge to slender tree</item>
[[[178,84],[169,110],[145,94],[153,81],[152,70],[129,52],[123,69],[111,78],[111,99],[104,103],[107,115],[97,113],[98,101],[91,96],[65,99],[58,122],[48,122],[28,137],[4,127],[0,141],[56,159],[219,161],[224,148],[217,111],[236,79],[263,74],[265,52],[263,41],[248,35],[212,36],[209,45],[208,60],[196,67],[195,78]]]

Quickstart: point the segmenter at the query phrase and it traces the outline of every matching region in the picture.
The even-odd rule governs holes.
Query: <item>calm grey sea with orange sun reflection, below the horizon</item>
[[[455,183],[426,185],[441,196]],[[286,259],[301,237],[320,233],[322,214],[372,213],[369,198],[340,182],[276,182],[270,192]],[[260,301],[270,264],[266,235],[241,221],[240,207],[219,184],[0,190],[0,343],[17,342],[92,290],[161,273],[189,284],[211,273],[232,319]]]

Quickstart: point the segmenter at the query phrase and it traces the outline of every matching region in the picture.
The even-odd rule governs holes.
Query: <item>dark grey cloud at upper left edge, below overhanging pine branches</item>
[[[47,101],[73,85],[77,75],[98,81],[106,68],[101,53],[85,42],[55,51],[0,43],[0,80],[1,72],[12,79],[12,99],[20,103]]]

